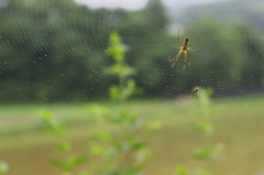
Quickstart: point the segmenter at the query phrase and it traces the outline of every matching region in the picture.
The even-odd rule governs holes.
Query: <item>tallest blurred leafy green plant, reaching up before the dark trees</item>
[[[103,72],[118,77],[118,85],[111,85],[109,95],[112,100],[125,101],[142,94],[142,88],[129,78],[135,70],[124,63],[124,52],[128,47],[121,42],[117,32],[110,34],[110,45],[107,55],[111,56],[114,64]],[[140,174],[147,162],[148,146],[145,138],[154,130],[161,128],[155,121],[144,124],[133,113],[112,113],[110,110],[97,105],[89,106],[90,112],[97,117],[100,131],[96,131],[90,143],[94,155],[101,157],[103,169],[98,168],[97,174],[108,175],[136,175]]]

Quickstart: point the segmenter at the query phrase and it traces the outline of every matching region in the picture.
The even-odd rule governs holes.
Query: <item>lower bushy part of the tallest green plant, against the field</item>
[[[96,106],[90,107],[92,112]],[[96,107],[98,108],[98,107]],[[97,113],[98,114],[98,113]],[[96,174],[140,174],[148,160],[146,136],[161,127],[160,122],[144,124],[136,114],[101,113],[92,134],[90,152],[102,160]],[[103,166],[103,168],[101,168]]]

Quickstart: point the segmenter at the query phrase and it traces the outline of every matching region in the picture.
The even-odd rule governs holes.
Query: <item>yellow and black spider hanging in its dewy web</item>
[[[179,48],[179,52],[177,53],[177,55],[175,55],[175,57],[174,57],[173,59],[168,58],[168,61],[169,61],[169,62],[173,62],[173,63],[172,63],[172,67],[174,67],[175,64],[178,62],[178,58],[179,58],[180,54],[184,53],[184,54],[185,54],[185,64],[184,64],[183,70],[185,70],[185,67],[186,67],[187,65],[190,65],[190,62],[189,62],[187,52],[188,52],[188,51],[189,51],[189,52],[196,52],[198,48],[197,48],[197,50],[194,50],[194,51],[191,51],[191,50],[199,44],[200,39],[199,39],[199,41],[196,42],[196,44],[195,44],[194,46],[191,46],[191,47],[188,47],[188,45],[189,45],[189,39],[185,39],[183,45],[180,45],[180,43],[179,43],[179,32],[180,32],[180,29],[178,30],[178,37],[177,37],[178,46],[175,45],[175,44],[173,43],[173,41],[172,41],[173,46],[174,46],[175,48]],[[200,35],[200,37],[201,37],[201,35]]]

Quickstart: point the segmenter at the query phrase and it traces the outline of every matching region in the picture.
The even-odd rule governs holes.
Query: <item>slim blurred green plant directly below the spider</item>
[[[202,133],[205,135],[206,143],[204,146],[195,147],[191,152],[191,157],[195,160],[206,161],[208,167],[216,160],[222,158],[222,143],[213,143],[211,138],[215,133],[215,124],[211,122],[209,109],[210,109],[210,96],[213,94],[211,88],[199,88],[196,94],[197,105],[198,105],[198,116],[196,121],[191,123],[191,129],[196,132]],[[213,171],[213,169],[210,169]],[[191,173],[189,173],[191,172]],[[174,175],[215,175],[209,171],[197,168],[194,171],[188,169],[184,166],[178,166]]]

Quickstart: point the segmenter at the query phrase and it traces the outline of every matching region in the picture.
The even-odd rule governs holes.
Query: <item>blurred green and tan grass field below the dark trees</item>
[[[74,151],[88,152],[87,142],[92,129],[89,103],[67,105],[7,105],[0,107],[0,160],[9,163],[8,175],[57,175],[61,172],[50,164],[57,157],[54,138],[43,130],[37,117],[40,110],[48,110],[62,123],[68,125],[68,139]],[[264,173],[264,98],[245,96],[213,99],[209,116],[216,124],[213,138],[205,139],[190,130],[190,123],[199,118],[199,105],[193,97],[176,100],[135,100],[127,103],[99,102],[113,113],[136,113],[145,122],[156,121],[163,128],[147,139],[152,160],[145,174],[170,175],[178,165],[208,167],[224,175]],[[190,158],[190,151],[208,142],[224,144],[224,156],[211,165]]]

